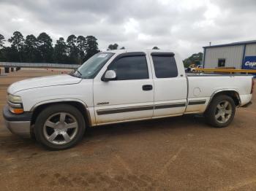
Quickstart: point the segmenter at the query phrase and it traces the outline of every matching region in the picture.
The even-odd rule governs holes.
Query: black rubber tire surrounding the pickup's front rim
[[[70,139],[69,142],[67,142],[65,144],[54,144],[54,143],[48,141],[48,139],[46,137],[47,134],[45,135],[45,132],[46,132],[45,129],[48,128],[47,125],[45,125],[45,122],[48,121],[49,117],[55,116],[55,114],[56,114],[56,116],[58,114],[60,114],[59,118],[61,118],[61,113],[67,114],[68,117],[72,116],[73,117],[72,119],[75,120],[75,124],[77,124],[77,126],[75,127],[74,136],[72,136],[72,139]],[[68,124],[67,122],[65,122],[65,119],[69,120],[69,119],[67,119],[66,115],[64,117],[64,123]],[[61,121],[61,119],[59,119],[59,120]],[[56,124],[58,124],[58,122],[54,123],[54,125],[56,125]],[[55,130],[55,128],[52,128],[52,129]],[[37,120],[35,122],[34,133],[35,133],[37,141],[39,141],[39,143],[42,144],[47,149],[61,150],[61,149],[68,149],[70,147],[74,147],[75,144],[78,144],[78,142],[81,139],[83,139],[85,130],[86,130],[86,122],[84,120],[83,115],[80,113],[80,111],[78,109],[76,109],[74,106],[71,106],[69,104],[54,104],[54,105],[48,106],[47,108],[43,109],[42,112],[39,113]],[[55,133],[55,131],[53,131],[53,132]],[[58,132],[58,133],[60,133],[60,132]],[[59,136],[59,134],[58,134],[58,136]],[[57,136],[56,136],[56,138],[57,138]],[[64,139],[64,136],[63,136],[63,139]]]

